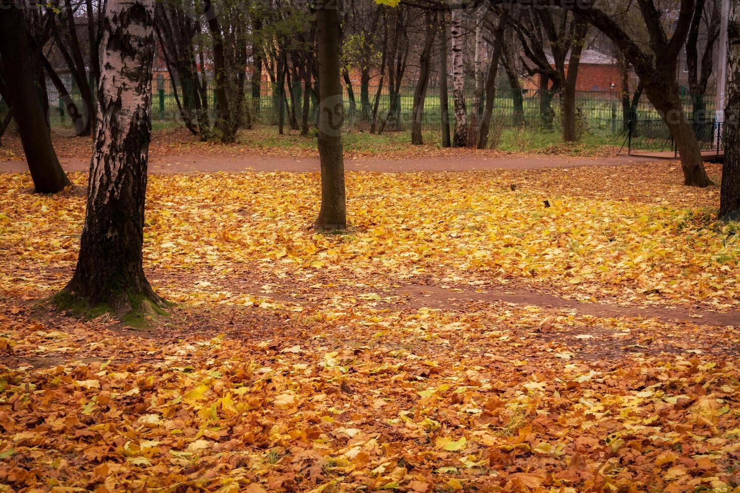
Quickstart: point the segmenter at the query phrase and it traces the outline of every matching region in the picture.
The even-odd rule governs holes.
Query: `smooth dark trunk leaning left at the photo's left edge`
[[[71,183],[59,166],[46,115],[38,100],[23,10],[10,0],[0,2],[0,60],[8,103],[15,111],[33,186],[44,194],[60,191]]]

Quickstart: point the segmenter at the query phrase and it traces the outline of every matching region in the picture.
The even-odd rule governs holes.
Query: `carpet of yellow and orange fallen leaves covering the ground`
[[[2,174],[0,489],[740,491],[740,233],[675,168],[349,174],[341,235],[315,174],[152,176],[146,330],[35,304],[85,176]]]

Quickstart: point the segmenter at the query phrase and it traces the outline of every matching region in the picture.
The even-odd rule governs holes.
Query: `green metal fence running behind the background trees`
[[[65,80],[66,79],[66,80]],[[81,103],[79,92],[73,86],[71,77],[63,77],[65,86],[70,90],[75,102]],[[303,112],[303,98],[309,98],[310,118],[315,117],[316,100],[312,94],[303,94],[303,84],[297,83],[292,86],[286,86],[282,91],[280,86],[263,81],[260,84],[259,101],[252,101],[251,98],[251,81],[246,81],[246,100],[244,104],[245,111],[250,109],[252,121],[255,123],[276,125],[279,120],[280,107],[283,109],[283,117],[286,126],[290,126],[291,116],[293,113],[293,104],[295,103],[296,119],[300,123]],[[181,86],[177,88],[177,94],[182,102],[184,98],[192,98],[193,95],[184,95]],[[282,92],[283,103],[280,104],[278,94]],[[354,104],[350,97],[347,86],[344,86],[344,105],[345,105],[345,125],[346,126],[363,126],[368,125],[367,118],[363,118],[367,113],[372,113],[374,109],[375,98],[377,95],[377,86],[369,86],[369,103],[370,107],[363,108],[360,97],[360,86],[354,84],[351,87],[354,95]],[[52,123],[64,125],[70,124],[65,121],[64,104],[58,97],[53,84],[47,83],[47,95],[50,106],[50,120]],[[388,109],[391,104],[391,95],[388,87],[384,86],[380,91],[377,104],[378,120],[385,119],[388,116]],[[209,81],[207,86],[208,111],[211,117],[215,113],[216,98],[214,85]],[[465,94],[465,100],[468,112],[473,111],[473,92],[468,91]],[[517,101],[519,103],[517,104]],[[704,106],[707,114],[713,114],[715,98],[713,95],[704,97]],[[692,103],[690,97],[682,98],[684,109],[691,118]],[[481,101],[485,104],[485,99]],[[397,99],[396,111],[387,122],[386,129],[408,130],[411,128],[412,114],[414,106],[414,83],[407,84],[400,89],[400,95]],[[517,107],[518,106],[518,107]],[[448,108],[451,126],[454,126],[454,98],[451,87],[448,90]],[[596,135],[617,135],[627,131],[625,129],[625,120],[622,112],[622,99],[619,92],[576,92],[576,108],[579,115],[579,123],[585,132]],[[482,108],[481,108],[482,109]],[[554,129],[560,126],[561,102],[559,95],[555,95],[551,101],[552,124]],[[170,78],[157,77],[152,84],[152,118],[160,121],[171,121],[181,123],[180,110],[175,99],[175,90],[172,87]],[[536,90],[514,90],[514,89],[497,89],[496,100],[494,103],[494,115],[492,117],[497,124],[504,127],[519,126],[525,123],[528,126],[539,128],[543,126],[540,112],[540,95]],[[659,120],[660,115],[655,108],[647,101],[645,96],[642,97],[636,112],[633,115],[635,120]],[[68,118],[66,119],[68,120]],[[427,89],[425,98],[424,112],[422,118],[422,128],[425,131],[439,132],[442,128],[442,115],[440,113],[440,89],[432,85]]]

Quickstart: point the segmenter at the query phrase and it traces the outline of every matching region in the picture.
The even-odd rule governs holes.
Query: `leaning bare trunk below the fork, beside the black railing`
[[[673,140],[681,156],[681,168],[684,172],[684,185],[705,187],[712,185],[712,180],[704,171],[702,152],[696,142],[696,136],[679,98],[679,89],[674,80],[672,84],[645,85],[645,93],[658,110],[661,118],[670,129]]]

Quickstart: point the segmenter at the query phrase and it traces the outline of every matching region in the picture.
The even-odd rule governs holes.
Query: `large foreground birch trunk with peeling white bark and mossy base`
[[[143,321],[164,302],[144,276],[154,0],[109,0],[101,41],[98,125],[73,279],[58,307],[102,307]],[[132,317],[135,317],[133,319]]]

